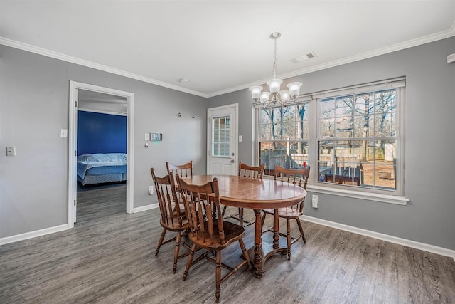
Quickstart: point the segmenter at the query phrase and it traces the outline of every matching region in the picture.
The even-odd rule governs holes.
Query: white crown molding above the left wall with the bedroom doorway
[[[178,85],[171,85],[170,83],[164,83],[163,81],[159,81],[159,80],[155,80],[155,79],[152,79],[152,78],[144,77],[144,76],[137,75],[137,74],[134,74],[134,73],[129,73],[127,71],[119,70],[117,68],[111,68],[111,67],[109,67],[107,65],[101,65],[101,64],[98,64],[98,63],[94,63],[94,62],[91,62],[91,61],[86,61],[84,59],[76,58],[76,57],[73,57],[73,56],[68,56],[68,55],[65,55],[63,53],[50,51],[50,50],[47,50],[45,48],[39,48],[38,46],[31,46],[30,44],[21,43],[21,42],[14,41],[14,40],[11,40],[11,39],[8,39],[8,38],[0,37],[0,44],[2,44],[4,46],[11,46],[11,48],[18,48],[18,49],[20,49],[22,51],[28,51],[28,52],[31,52],[31,53],[36,53],[38,55],[43,55],[43,56],[47,56],[47,57],[50,57],[50,58],[58,59],[58,60],[61,60],[61,61],[66,61],[66,62],[69,62],[69,63],[75,63],[77,65],[86,66],[87,68],[95,68],[96,70],[102,70],[102,71],[107,72],[107,73],[112,73],[112,74],[115,74],[115,75],[120,75],[120,76],[124,76],[124,77],[127,77],[127,78],[132,78],[132,79],[135,79],[135,80],[144,81],[144,83],[151,83],[153,85],[159,85],[161,87],[169,88],[171,90],[178,90],[178,91],[183,92],[183,93],[197,95],[197,96],[200,96],[200,97],[203,97],[203,98],[207,98],[208,97],[207,94],[200,93],[200,92],[197,92],[195,90],[188,90],[186,88],[179,87]]]

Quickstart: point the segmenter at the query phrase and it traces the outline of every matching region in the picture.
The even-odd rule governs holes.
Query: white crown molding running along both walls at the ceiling
[[[324,70],[326,68],[333,68],[335,66],[343,65],[343,64],[346,64],[346,63],[353,63],[355,61],[360,61],[360,60],[363,60],[363,59],[366,59],[366,58],[380,56],[380,55],[383,55],[383,54],[386,54],[386,53],[391,53],[391,52],[394,52],[394,51],[400,51],[400,50],[403,50],[405,48],[411,48],[413,46],[419,46],[419,45],[424,44],[424,43],[430,43],[430,42],[433,42],[433,41],[441,40],[441,39],[444,39],[444,38],[449,38],[449,37],[452,37],[452,36],[455,36],[455,22],[452,23],[451,28],[449,30],[447,30],[447,31],[442,31],[442,32],[439,32],[439,33],[435,33],[435,34],[432,34],[432,35],[428,35],[428,36],[424,36],[424,37],[421,37],[421,38],[413,39],[413,40],[410,40],[410,41],[397,43],[397,44],[392,45],[392,46],[387,46],[385,48],[379,48],[379,49],[377,49],[375,51],[361,53],[361,54],[358,54],[356,56],[343,58],[341,60],[331,61],[329,63],[324,63],[324,64],[321,64],[321,65],[317,65],[317,66],[314,66],[312,68],[305,68],[305,69],[301,69],[301,70],[296,70],[296,71],[294,71],[292,73],[286,73],[286,74],[278,75],[277,77],[278,78],[282,78],[282,79],[286,79],[286,78],[291,78],[291,77],[295,77],[295,76],[298,76],[298,75],[304,75],[304,74],[307,74],[307,73],[316,72],[318,70]],[[219,91],[216,91],[216,92],[213,92],[213,93],[205,94],[205,93],[201,93],[201,92],[198,92],[198,91],[195,91],[195,90],[188,90],[188,89],[182,88],[182,87],[180,87],[178,85],[171,85],[169,83],[164,83],[163,81],[155,80],[155,79],[152,79],[152,78],[147,78],[147,77],[144,77],[144,76],[141,76],[141,75],[137,75],[137,74],[134,74],[134,73],[129,73],[127,71],[119,70],[117,68],[111,68],[111,67],[106,66],[106,65],[100,65],[98,63],[93,63],[91,61],[85,61],[85,60],[80,59],[80,58],[75,58],[73,56],[68,56],[68,55],[65,55],[65,54],[62,54],[62,53],[49,51],[49,50],[47,50],[45,48],[39,48],[37,46],[31,46],[29,44],[21,43],[21,42],[14,41],[14,40],[11,40],[11,39],[8,39],[8,38],[4,38],[4,37],[0,37],[0,44],[2,44],[4,46],[10,46],[12,48],[18,48],[18,49],[21,49],[23,51],[29,51],[31,53],[37,53],[39,55],[47,56],[47,57],[50,57],[50,58],[55,58],[55,59],[59,59],[59,60],[62,60],[62,61],[67,61],[69,63],[75,63],[75,64],[78,64],[78,65],[83,65],[83,66],[86,66],[87,68],[95,68],[97,70],[102,70],[102,71],[105,71],[107,73],[112,73],[112,74],[115,74],[115,75],[121,75],[121,76],[124,76],[124,77],[127,77],[127,78],[132,78],[132,79],[144,81],[145,83],[151,83],[151,84],[154,84],[154,85],[159,85],[159,86],[164,87],[164,88],[170,88],[172,90],[178,90],[178,91],[181,91],[183,93],[197,95],[197,96],[200,96],[200,97],[203,97],[203,98],[210,98],[210,97],[214,97],[214,96],[218,96],[218,95],[223,95],[223,94],[226,94],[226,93],[235,92],[237,90],[243,90],[245,88],[250,88],[250,86],[252,86],[252,85],[258,85],[258,84],[262,84],[262,83],[267,83],[267,81],[269,80],[268,78],[267,79],[263,79],[263,80],[257,80],[254,83],[247,83],[245,85],[238,85],[238,86],[233,87],[233,88],[228,88],[228,89],[225,89],[225,90],[219,90]]]

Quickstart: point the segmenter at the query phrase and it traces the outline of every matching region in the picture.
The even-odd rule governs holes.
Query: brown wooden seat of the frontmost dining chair
[[[245,236],[245,229],[237,224],[230,223],[229,221],[223,221],[223,230],[225,231],[225,243],[221,243],[221,239],[219,238],[219,234],[215,234],[215,237],[210,239],[210,234],[208,233],[208,225],[207,222],[204,223],[205,228],[205,239],[204,236],[199,234],[196,236],[191,232],[188,234],[188,238],[190,241],[197,246],[207,248],[207,249],[224,249],[229,246],[230,243],[234,241],[238,241],[242,239],[242,236]],[[213,223],[213,230],[215,231],[218,229],[218,223],[214,221]],[[200,232],[201,233],[201,232]]]

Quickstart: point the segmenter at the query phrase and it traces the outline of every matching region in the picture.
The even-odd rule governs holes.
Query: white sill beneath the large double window
[[[405,206],[407,202],[410,201],[405,196],[393,196],[370,192],[360,192],[354,190],[321,187],[315,185],[307,185],[306,190],[322,194],[352,197],[353,199],[368,199],[369,201],[380,201],[382,203],[396,204],[402,206]]]

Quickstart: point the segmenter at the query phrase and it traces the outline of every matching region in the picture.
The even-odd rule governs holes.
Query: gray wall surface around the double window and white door
[[[328,68],[299,80],[301,93],[406,76],[405,186],[407,206],[319,195],[319,209],[304,214],[403,239],[455,249],[455,38]],[[209,106],[239,103],[239,159],[250,159],[252,101],[249,90],[210,98]],[[309,197],[311,197],[309,192]],[[309,200],[308,200],[309,201]]]

